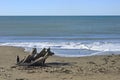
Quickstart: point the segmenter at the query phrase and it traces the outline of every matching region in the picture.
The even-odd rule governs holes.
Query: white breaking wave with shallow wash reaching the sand
[[[50,47],[57,56],[64,57],[92,56],[104,52],[120,51],[119,42],[3,42],[0,46],[23,47],[25,51],[31,51],[33,47],[36,47],[38,51],[44,47]]]

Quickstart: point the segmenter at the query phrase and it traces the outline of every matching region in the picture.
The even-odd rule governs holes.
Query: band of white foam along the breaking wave
[[[53,49],[87,49],[95,51],[120,51],[120,43],[108,42],[6,42],[0,43],[0,46],[16,46],[23,48],[48,48]]]

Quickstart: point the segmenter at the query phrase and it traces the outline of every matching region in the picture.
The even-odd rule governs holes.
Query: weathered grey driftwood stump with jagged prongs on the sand
[[[50,48],[43,48],[40,53],[37,53],[37,49],[33,48],[32,52],[21,61],[19,61],[19,56],[17,56],[17,65],[43,66],[45,64],[46,59],[52,55],[54,55],[54,53],[51,52]]]

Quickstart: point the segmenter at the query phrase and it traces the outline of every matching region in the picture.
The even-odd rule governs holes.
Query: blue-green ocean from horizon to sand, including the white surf
[[[120,16],[0,16],[0,46],[82,57],[120,54]]]

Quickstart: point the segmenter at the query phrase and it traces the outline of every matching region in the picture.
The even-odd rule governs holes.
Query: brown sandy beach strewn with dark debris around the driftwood
[[[0,47],[0,80],[120,80],[120,55],[91,57],[50,56],[45,67],[16,66],[23,48]]]

